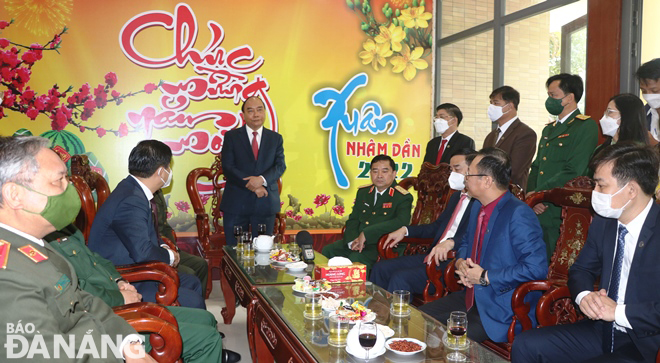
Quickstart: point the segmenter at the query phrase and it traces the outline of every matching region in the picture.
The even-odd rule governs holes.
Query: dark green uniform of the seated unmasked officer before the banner
[[[373,184],[360,187],[355,205],[341,240],[323,248],[323,255],[348,257],[353,262],[367,265],[367,270],[378,260],[378,239],[387,233],[410,224],[412,195],[393,182],[374,203],[376,187]],[[364,232],[366,242],[362,252],[348,248],[348,243]]]

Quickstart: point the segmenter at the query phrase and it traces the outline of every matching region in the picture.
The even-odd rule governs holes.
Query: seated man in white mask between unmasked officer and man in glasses
[[[387,235],[386,247],[396,247],[404,237],[433,238],[429,253],[382,260],[371,270],[371,282],[389,292],[407,290],[411,294],[421,294],[426,287],[426,264],[435,260],[438,268],[444,269],[447,266],[447,253],[454,250],[454,240],[461,240],[470,219],[470,207],[474,199],[464,190],[464,182],[468,159],[474,157],[474,154],[476,152],[473,149],[461,149],[451,157],[449,166],[452,173],[449,175],[449,185],[457,192],[449,198],[447,207],[435,222],[401,227]]]

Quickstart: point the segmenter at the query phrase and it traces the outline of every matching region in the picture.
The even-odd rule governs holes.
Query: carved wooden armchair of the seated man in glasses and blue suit
[[[514,317],[509,326],[508,342],[495,343],[490,340],[483,342],[484,346],[501,357],[510,359],[511,346],[518,323],[522,326],[522,331],[534,328],[527,315],[532,307],[524,301],[527,294],[533,291],[543,292],[535,307],[539,326],[573,323],[582,319],[573,305],[566,284],[568,271],[587,240],[587,232],[592,218],[591,192],[593,187],[594,184],[590,178],[581,176],[570,180],[563,188],[534,192],[525,200],[530,207],[541,202],[560,206],[562,224],[557,246],[548,268],[547,279],[525,282],[513,292],[511,307]],[[463,288],[456,280],[454,263],[455,261],[452,261],[444,272],[450,292]]]

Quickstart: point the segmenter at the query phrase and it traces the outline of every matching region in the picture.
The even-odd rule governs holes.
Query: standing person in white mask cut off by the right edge
[[[651,135],[651,145],[660,141],[660,58],[642,64],[635,74],[639,80],[642,97],[646,100],[646,122]]]

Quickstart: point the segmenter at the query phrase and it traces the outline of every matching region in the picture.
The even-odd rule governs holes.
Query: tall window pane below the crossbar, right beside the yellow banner
[[[441,103],[461,109],[459,131],[472,137],[480,149],[491,131],[486,110],[493,85],[493,31],[446,45],[440,57]]]

